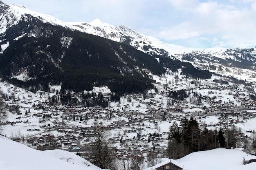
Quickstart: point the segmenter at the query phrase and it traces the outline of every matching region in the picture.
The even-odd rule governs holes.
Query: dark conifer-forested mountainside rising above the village
[[[20,36],[21,35],[21,36]],[[209,78],[209,71],[160,55],[148,55],[132,46],[80,31],[44,23],[26,15],[0,35],[2,81],[47,91],[62,83],[61,91],[91,90],[108,85],[117,94],[142,93],[153,88],[147,72],[161,75],[164,67],[181,68],[188,77]]]

